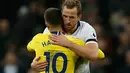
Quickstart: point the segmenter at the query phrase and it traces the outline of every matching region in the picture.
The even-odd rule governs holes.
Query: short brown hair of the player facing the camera
[[[82,12],[82,6],[80,0],[65,0],[62,4],[62,8],[64,6],[66,6],[69,9],[76,7],[78,11],[78,15]]]

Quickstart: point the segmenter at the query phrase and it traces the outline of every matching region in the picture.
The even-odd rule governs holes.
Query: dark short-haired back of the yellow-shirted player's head
[[[45,21],[52,26],[63,23],[61,10],[58,8],[48,8],[44,13]]]

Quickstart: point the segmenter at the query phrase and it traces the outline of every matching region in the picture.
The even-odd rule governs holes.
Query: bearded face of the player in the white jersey
[[[64,28],[67,32],[74,32],[76,30],[76,25],[79,20],[77,15],[77,8],[68,9],[66,6],[62,9],[62,15],[64,19]]]

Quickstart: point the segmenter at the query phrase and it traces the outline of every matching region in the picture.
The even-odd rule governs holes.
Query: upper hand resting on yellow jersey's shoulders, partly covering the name
[[[52,34],[50,36],[50,39],[53,41],[52,44],[54,45],[67,47],[70,43],[70,40],[68,40],[63,34],[61,34],[60,36],[56,34]]]

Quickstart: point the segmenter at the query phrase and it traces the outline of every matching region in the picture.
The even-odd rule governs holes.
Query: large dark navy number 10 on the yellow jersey
[[[65,73],[66,72],[68,60],[67,60],[67,56],[64,53],[58,52],[53,56],[52,66],[50,66],[50,52],[45,52],[44,56],[46,56],[46,60],[48,62],[48,66],[47,66],[46,71],[45,71],[46,73],[50,73],[49,72],[50,67],[52,67],[53,73]],[[56,60],[58,57],[62,57],[64,60],[63,67],[62,67],[62,70],[60,72],[58,72],[58,70],[56,69]]]

